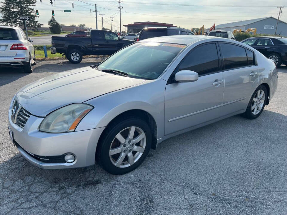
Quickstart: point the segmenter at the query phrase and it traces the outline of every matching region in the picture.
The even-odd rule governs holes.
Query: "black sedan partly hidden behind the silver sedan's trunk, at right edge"
[[[250,45],[265,57],[274,61],[276,66],[287,65],[287,38],[284,37],[251,37],[241,41]]]

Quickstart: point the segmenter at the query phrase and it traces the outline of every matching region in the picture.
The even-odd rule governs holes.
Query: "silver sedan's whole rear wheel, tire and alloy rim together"
[[[252,94],[243,116],[248,119],[256,119],[262,113],[267,99],[266,87],[264,85],[260,85]]]

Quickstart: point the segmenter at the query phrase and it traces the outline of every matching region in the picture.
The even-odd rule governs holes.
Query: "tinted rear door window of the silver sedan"
[[[225,69],[244,67],[248,65],[245,48],[228,43],[220,43],[220,46]]]

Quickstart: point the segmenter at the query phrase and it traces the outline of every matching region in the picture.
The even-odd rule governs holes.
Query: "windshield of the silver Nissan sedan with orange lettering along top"
[[[186,45],[140,42],[134,43],[101,63],[99,70],[116,70],[130,77],[156,79]]]

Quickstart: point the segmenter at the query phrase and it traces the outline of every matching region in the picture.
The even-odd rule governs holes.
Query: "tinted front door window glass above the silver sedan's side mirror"
[[[216,44],[206,44],[191,50],[179,65],[178,70],[192,70],[199,75],[218,71]]]

